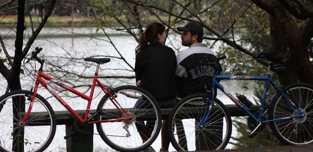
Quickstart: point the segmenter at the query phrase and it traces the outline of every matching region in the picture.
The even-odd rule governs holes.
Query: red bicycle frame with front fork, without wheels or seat
[[[88,101],[88,105],[87,105],[87,109],[86,109],[86,112],[85,112],[85,116],[84,116],[84,119],[82,119],[77,112],[75,112],[58,94],[56,94],[56,92],[54,90],[52,90],[52,88],[43,80],[43,79],[47,80],[47,81],[50,81],[78,96],[80,96],[81,98],[85,99]],[[118,118],[118,119],[111,119],[111,120],[101,120],[101,121],[92,121],[92,122],[88,122],[88,124],[95,124],[95,123],[106,123],[106,122],[116,122],[116,121],[122,121],[122,120],[129,120],[129,119],[133,119],[133,115],[130,115],[120,104],[119,102],[115,99],[115,97],[108,91],[108,89],[98,80],[97,78],[97,74],[95,74],[95,77],[94,77],[94,80],[93,80],[93,85],[92,85],[92,88],[91,88],[91,93],[90,93],[90,96],[87,96],[63,83],[61,83],[60,81],[57,81],[51,77],[49,77],[47,74],[43,73],[42,70],[39,70],[38,72],[38,76],[37,76],[37,80],[36,80],[36,84],[35,84],[35,89],[34,89],[34,95],[32,97],[32,103],[34,102],[35,100],[35,96],[36,96],[36,93],[37,93],[37,89],[39,87],[39,84],[43,85],[53,96],[54,98],[56,98],[74,117],[75,119],[80,122],[81,124],[84,122],[84,121],[87,121],[88,119],[88,115],[89,115],[89,112],[90,112],[90,106],[91,106],[91,102],[92,102],[92,98],[93,98],[93,93],[94,93],[94,90],[95,90],[95,86],[96,86],[96,83],[100,86],[100,88],[103,90],[103,92],[105,94],[109,94],[110,96],[110,100],[112,101],[112,103],[117,107],[117,109],[121,112],[121,114],[123,115],[123,113],[126,113],[127,117],[125,118]],[[32,104],[30,105],[30,108],[29,110],[27,111],[25,117],[23,118],[23,120],[21,121],[21,124],[24,124],[27,117],[30,115],[30,112],[32,110]]]

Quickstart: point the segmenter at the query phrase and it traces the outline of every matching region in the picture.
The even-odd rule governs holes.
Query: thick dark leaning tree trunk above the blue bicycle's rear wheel
[[[278,1],[267,0],[251,0],[255,5],[265,10],[273,16],[276,23],[284,36],[284,40],[288,44],[290,52],[290,60],[294,65],[299,82],[313,84],[313,65],[309,60],[308,53],[305,48],[306,45],[300,34],[296,22],[293,20],[291,14],[279,4]],[[288,52],[286,53],[288,57]]]

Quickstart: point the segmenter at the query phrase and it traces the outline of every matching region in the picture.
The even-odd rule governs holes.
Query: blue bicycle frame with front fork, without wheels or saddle
[[[264,90],[263,90],[263,95],[262,95],[262,101],[261,101],[261,105],[260,105],[260,110],[259,110],[259,116],[258,118],[255,117],[247,107],[245,107],[239,100],[237,100],[230,92],[226,91],[224,89],[224,87],[218,83],[217,80],[260,80],[260,81],[265,81],[265,86],[264,86]],[[268,83],[271,83],[272,86],[275,88],[275,90],[277,92],[280,92],[283,97],[284,97],[284,101],[292,108],[292,109],[296,109],[299,112],[299,115],[294,115],[294,116],[289,116],[289,117],[281,117],[281,118],[276,118],[273,120],[262,120],[262,113],[264,110],[264,102],[265,102],[265,97],[266,97],[266,91],[267,91],[267,86]],[[204,113],[204,117],[201,119],[200,121],[200,127],[203,127],[205,125],[205,121],[207,120],[209,115],[210,115],[210,111],[211,108],[213,106],[213,98],[214,95],[216,94],[214,91],[214,88],[218,88],[219,90],[221,90],[227,97],[229,97],[236,105],[238,105],[241,110],[247,115],[249,116],[254,122],[259,123],[259,126],[261,124],[265,124],[268,122],[272,122],[272,121],[279,121],[282,119],[293,119],[293,118],[298,118],[298,117],[304,117],[305,116],[305,112],[302,112],[298,107],[295,106],[295,104],[289,99],[289,97],[270,79],[270,66],[268,67],[268,72],[266,76],[232,76],[232,75],[218,75],[217,73],[214,73],[214,77],[213,77],[213,83],[212,83],[212,98],[211,98],[211,102],[210,104],[207,104],[205,113]]]

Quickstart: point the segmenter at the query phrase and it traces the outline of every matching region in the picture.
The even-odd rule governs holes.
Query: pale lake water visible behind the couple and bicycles
[[[61,29],[54,29],[54,28],[44,28],[41,32],[41,35],[50,35],[50,34],[70,34],[70,29],[61,30]],[[6,33],[9,33],[8,30],[1,30],[1,35],[4,36]],[[74,32],[76,33],[90,33],[95,32],[95,29],[90,28],[75,28]],[[116,33],[116,31],[107,30],[108,33]],[[11,31],[12,33],[12,31]],[[41,36],[43,37],[43,36]],[[173,40],[171,44],[167,42],[167,46],[173,47],[174,50],[184,50],[186,47],[181,46],[181,41],[179,35],[171,34],[169,36],[170,40]],[[115,47],[120,51],[120,54],[123,55],[125,60],[128,62],[129,65],[134,67],[135,63],[135,56],[134,56],[134,50],[137,46],[137,43],[128,36],[118,36],[118,37],[111,37],[111,41],[115,44],[115,47],[113,47],[106,37],[97,37],[97,39],[92,39],[90,37],[78,37],[74,38],[74,46],[72,47],[72,39],[71,38],[40,38],[35,41],[35,43],[32,45],[32,48],[35,47],[42,47],[42,55],[45,56],[55,56],[55,57],[77,57],[77,58],[83,58],[83,57],[89,57],[89,56],[95,56],[95,55],[103,55],[103,56],[111,56],[111,62],[102,65],[103,68],[106,69],[119,69],[119,70],[103,70],[105,71],[106,75],[134,75],[134,72],[131,71],[131,68],[126,65],[126,63],[120,59],[113,58],[113,57],[119,57],[119,53],[115,50]],[[25,42],[26,43],[26,42]],[[10,39],[5,42],[7,45],[7,49],[11,50],[9,53],[11,55],[14,54],[12,51],[14,48],[14,40]],[[213,51],[217,51],[214,50]],[[39,55],[40,56],[40,55]],[[47,58],[46,60],[53,60],[53,58]],[[71,67],[71,71],[81,72],[82,68],[80,65],[71,65],[68,66]],[[85,74],[88,74],[88,76],[93,77],[94,74],[94,67],[88,68],[85,72]],[[30,80],[27,75],[21,75],[22,79],[22,89],[29,90],[33,84],[33,82]],[[4,78],[1,76],[1,88],[6,88],[7,84]],[[87,84],[91,84],[92,80],[89,80],[90,82],[86,82]],[[120,86],[120,85],[135,85],[135,80],[123,80],[123,79],[100,79],[103,83],[112,85],[113,87]],[[79,83],[79,82],[77,82]],[[85,82],[84,82],[85,83]],[[243,81],[222,81],[221,84],[225,87],[225,89],[229,92],[231,92],[233,95],[236,92],[239,92],[241,94],[246,95],[251,101],[253,101],[253,92],[252,92],[252,84],[248,85],[248,89],[242,89]],[[71,85],[69,85],[71,86]],[[5,90],[0,90],[0,93],[4,93]],[[79,89],[78,91],[84,92],[86,91],[86,88]],[[95,91],[95,95],[97,95],[100,92],[100,90]],[[43,97],[51,97],[51,95],[44,90],[43,88],[38,90],[38,94],[41,94]],[[89,94],[87,92],[86,94]],[[95,109],[98,105],[98,101],[100,101],[102,95],[99,95],[97,98],[95,98],[92,102],[92,109]],[[218,99],[220,99],[224,104],[234,104],[228,97],[226,97],[224,94],[222,94],[220,91],[218,91]],[[73,109],[86,109],[86,102],[79,100],[78,98],[64,98],[66,102],[73,107]],[[51,104],[52,108],[54,110],[65,110],[65,108],[55,99],[48,98],[47,99],[49,103]],[[234,129],[234,127],[233,127]],[[95,133],[97,133],[97,130],[95,128]],[[236,131],[233,131],[233,135],[236,135]],[[65,136],[65,126],[64,125],[58,125],[56,129],[55,137],[51,143],[51,145],[48,147],[48,151],[61,151],[62,147],[66,147],[66,140],[63,139]],[[109,146],[107,146],[104,141],[100,138],[99,135],[94,135],[94,146],[95,147],[101,147],[101,148],[108,148],[111,149]],[[160,135],[156,139],[156,141],[152,144],[153,148],[158,151],[161,148],[161,138]],[[227,145],[226,148],[232,148],[232,145]],[[174,147],[170,145],[169,151],[175,151]]]

